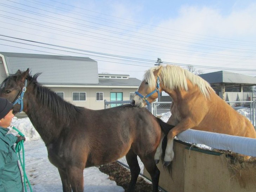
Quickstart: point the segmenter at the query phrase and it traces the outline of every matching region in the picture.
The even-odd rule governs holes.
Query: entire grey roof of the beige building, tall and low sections
[[[42,55],[0,52],[7,75],[30,68],[31,74],[42,73],[38,82],[50,87],[130,87],[137,88],[141,81],[129,75],[98,74],[98,64],[89,57]],[[105,75],[109,78],[99,78]],[[113,78],[113,76],[117,76]],[[121,78],[119,78],[119,76]]]

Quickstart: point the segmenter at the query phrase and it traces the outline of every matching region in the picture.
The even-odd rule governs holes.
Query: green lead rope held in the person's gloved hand
[[[19,135],[25,137],[25,135],[23,135],[20,130],[18,130],[16,127],[12,126],[12,128],[14,130],[16,130],[18,132]],[[15,146],[15,152],[16,154],[18,153],[19,155],[19,159],[20,159],[20,164],[21,164],[21,167],[22,167],[22,170],[23,170],[23,182],[24,182],[24,188],[25,188],[25,191],[27,192],[27,187],[26,187],[26,182],[30,188],[30,191],[32,192],[32,188],[31,188],[31,185],[30,185],[30,182],[27,178],[27,174],[26,174],[26,171],[25,171],[25,150],[24,150],[24,141],[21,140],[20,142],[18,142]],[[20,155],[20,151],[22,149],[22,160],[21,160],[21,155]]]

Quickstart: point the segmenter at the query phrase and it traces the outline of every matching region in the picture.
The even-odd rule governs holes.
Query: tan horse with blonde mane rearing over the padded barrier
[[[146,71],[131,104],[144,107],[161,91],[173,99],[167,123],[175,126],[167,135],[164,165],[169,165],[174,158],[174,137],[187,129],[256,138],[251,122],[215,94],[207,81],[178,66],[160,65]],[[156,162],[161,152],[160,146]]]

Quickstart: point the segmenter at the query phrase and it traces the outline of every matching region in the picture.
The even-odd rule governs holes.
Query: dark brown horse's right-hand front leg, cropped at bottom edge
[[[73,192],[84,191],[84,168],[79,166],[69,166],[67,169],[68,181],[70,181]]]

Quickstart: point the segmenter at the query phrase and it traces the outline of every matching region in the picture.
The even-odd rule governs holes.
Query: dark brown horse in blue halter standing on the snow
[[[85,167],[106,164],[124,155],[131,172],[128,191],[135,190],[140,172],[137,155],[151,176],[153,191],[158,191],[160,171],[154,154],[161,128],[174,126],[146,109],[130,105],[106,110],[76,107],[38,84],[38,75],[32,77],[29,69],[23,73],[18,70],[2,82],[0,96],[17,103],[14,113],[23,109],[30,118],[46,144],[49,161],[58,168],[63,191],[83,191]]]

